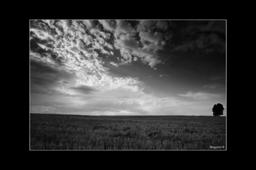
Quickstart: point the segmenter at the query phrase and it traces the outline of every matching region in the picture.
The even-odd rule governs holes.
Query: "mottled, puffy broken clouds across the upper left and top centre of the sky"
[[[137,27],[124,20],[100,20],[99,24],[92,20],[31,21],[31,56],[36,61],[75,65],[92,73],[108,70],[101,65],[103,55],[114,55],[110,50],[116,48],[122,56],[121,65],[141,61],[156,69],[162,62],[158,51],[166,40],[161,32],[149,29],[151,26],[160,30],[168,27],[163,21],[140,21]],[[108,40],[111,37],[114,41]]]

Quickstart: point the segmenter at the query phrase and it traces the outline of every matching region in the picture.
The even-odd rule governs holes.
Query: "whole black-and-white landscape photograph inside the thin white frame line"
[[[31,151],[226,151],[226,19],[29,19]]]

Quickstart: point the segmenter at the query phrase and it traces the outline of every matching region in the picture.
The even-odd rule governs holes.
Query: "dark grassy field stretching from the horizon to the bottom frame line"
[[[31,113],[30,118],[31,150],[214,150],[210,146],[226,147],[225,116]]]

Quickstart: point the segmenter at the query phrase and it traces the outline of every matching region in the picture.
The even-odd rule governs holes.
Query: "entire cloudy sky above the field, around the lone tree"
[[[30,20],[30,112],[226,116],[226,20]]]

